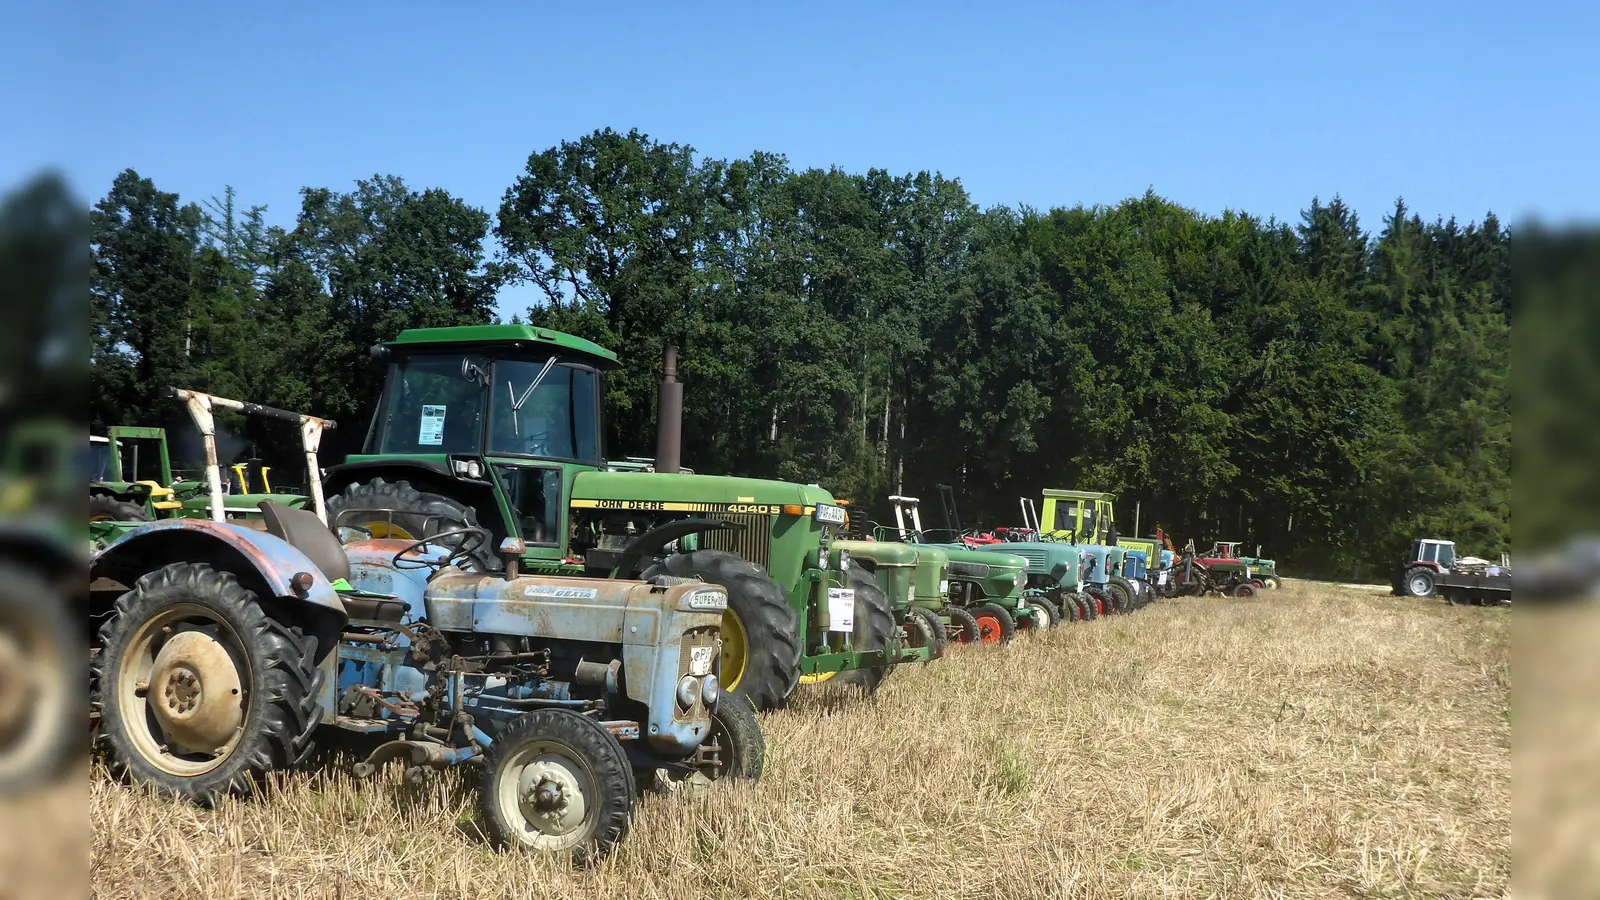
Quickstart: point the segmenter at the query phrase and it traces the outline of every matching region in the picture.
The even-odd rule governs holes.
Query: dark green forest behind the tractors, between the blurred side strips
[[[126,170],[90,210],[90,426],[178,424],[186,386],[339,420],[360,448],[400,330],[515,319],[587,336],[608,452],[650,455],[680,346],[685,464],[816,482],[883,517],[952,485],[963,524],[1045,487],[1118,524],[1379,577],[1413,536],[1510,549],[1510,231],[1338,197],[1299,221],[979,208],[957,178],[722,160],[600,130],[507,171],[498,210],[379,175],[304,187],[293,224]],[[224,452],[293,472],[293,436]],[[936,506],[936,503],[934,503]]]

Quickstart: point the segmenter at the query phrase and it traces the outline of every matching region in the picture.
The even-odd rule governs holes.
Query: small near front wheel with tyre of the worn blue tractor
[[[533,812],[525,794],[550,790],[582,799],[582,818],[566,804]],[[634,818],[638,788],[622,745],[600,722],[571,709],[538,709],[512,719],[483,757],[478,814],[490,842],[525,852],[568,852],[576,865],[605,858]],[[538,807],[534,807],[538,809]]]

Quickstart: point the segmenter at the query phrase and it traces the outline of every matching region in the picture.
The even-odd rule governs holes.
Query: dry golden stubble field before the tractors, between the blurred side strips
[[[456,778],[206,812],[90,783],[96,897],[1486,897],[1510,878],[1510,628],[1290,583],[963,647],[763,716],[760,783],[648,798],[574,871]]]

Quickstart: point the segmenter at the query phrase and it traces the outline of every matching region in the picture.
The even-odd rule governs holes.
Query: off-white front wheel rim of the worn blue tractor
[[[570,746],[528,741],[499,769],[494,798],[518,844],[565,850],[589,838],[598,810],[595,778]]]

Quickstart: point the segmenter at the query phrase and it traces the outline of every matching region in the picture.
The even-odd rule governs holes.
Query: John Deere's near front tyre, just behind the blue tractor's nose
[[[800,682],[800,620],[778,581],[725,549],[675,552],[640,580],[656,575],[722,585],[728,591],[728,612],[722,615],[723,689],[744,695],[758,713],[789,703]]]

